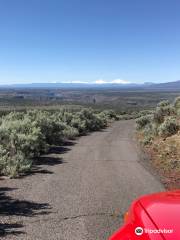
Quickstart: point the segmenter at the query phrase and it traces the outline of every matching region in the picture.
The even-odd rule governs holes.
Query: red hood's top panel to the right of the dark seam
[[[180,190],[156,193],[139,199],[139,203],[166,240],[180,239]]]

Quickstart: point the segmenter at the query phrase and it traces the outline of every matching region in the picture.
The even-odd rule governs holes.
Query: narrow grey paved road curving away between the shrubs
[[[108,239],[134,198],[163,189],[141,165],[133,131],[133,121],[115,122],[54,149],[31,176],[1,181],[7,239]]]

